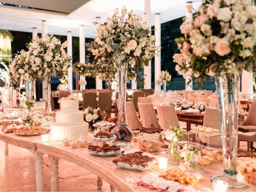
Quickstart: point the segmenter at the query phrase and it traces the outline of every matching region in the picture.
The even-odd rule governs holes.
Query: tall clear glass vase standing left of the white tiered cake
[[[41,121],[42,127],[49,127],[52,122],[55,122],[54,116],[52,116],[52,107],[51,107],[51,80],[52,77],[50,74],[44,75],[44,83],[45,83],[45,112],[44,117]]]

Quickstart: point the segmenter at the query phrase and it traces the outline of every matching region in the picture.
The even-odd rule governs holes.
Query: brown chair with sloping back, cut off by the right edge
[[[256,132],[256,102],[252,102],[246,120],[238,125],[241,132]]]

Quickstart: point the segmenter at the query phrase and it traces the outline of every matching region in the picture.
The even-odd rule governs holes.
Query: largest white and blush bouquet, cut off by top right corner
[[[192,20],[180,26],[176,70],[190,71],[201,85],[206,76],[256,68],[256,6],[252,0],[203,1]],[[242,62],[242,63],[241,63]]]

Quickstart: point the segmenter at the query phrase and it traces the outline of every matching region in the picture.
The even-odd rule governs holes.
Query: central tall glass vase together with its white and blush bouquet
[[[112,130],[116,134],[115,144],[127,145],[132,141],[132,131],[125,120],[125,97],[128,68],[134,74],[139,86],[144,84],[143,66],[155,56],[158,47],[155,37],[138,14],[124,7],[121,12],[116,8],[114,14],[103,24],[97,24],[96,37],[87,43],[88,51],[94,56],[92,62],[95,71],[107,69],[105,76],[116,79],[116,69],[119,79],[119,116],[118,125]],[[124,130],[125,129],[125,130]],[[127,136],[120,134],[127,133]]]

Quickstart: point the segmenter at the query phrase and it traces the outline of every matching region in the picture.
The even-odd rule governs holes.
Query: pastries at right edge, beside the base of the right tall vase
[[[256,160],[237,160],[236,166],[238,180],[247,184],[256,185]]]

